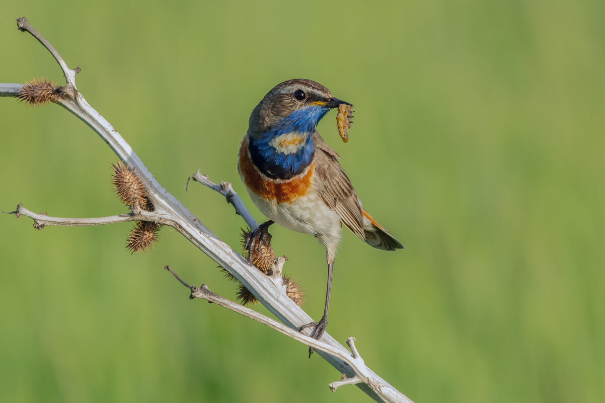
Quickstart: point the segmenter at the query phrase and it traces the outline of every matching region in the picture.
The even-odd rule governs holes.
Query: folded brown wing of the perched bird
[[[319,196],[325,205],[338,213],[353,234],[365,241],[364,213],[347,173],[338,163],[340,156],[325,144],[318,132],[313,134],[313,143],[316,147],[315,175],[319,179]]]

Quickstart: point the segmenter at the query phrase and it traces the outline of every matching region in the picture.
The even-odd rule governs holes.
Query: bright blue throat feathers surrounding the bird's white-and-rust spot
[[[329,108],[320,105],[307,106],[289,114],[270,131],[261,134],[260,138],[250,137],[249,149],[252,162],[272,179],[290,179],[301,173],[313,161],[315,145],[311,136],[328,111]],[[284,154],[269,144],[273,138],[292,132],[307,135],[304,145],[298,152]]]

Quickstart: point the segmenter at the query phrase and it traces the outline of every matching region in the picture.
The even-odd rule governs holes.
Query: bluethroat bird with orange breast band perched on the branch
[[[338,163],[340,156],[315,130],[321,118],[341,104],[351,105],[312,80],[276,85],[253,109],[238,161],[250,198],[269,218],[255,232],[266,233],[276,222],[315,236],[325,247],[328,283],[324,315],[319,322],[301,326],[301,330],[315,327],[312,337],[318,340],[328,323],[332,269],[342,224],[374,248],[404,248],[365,211]],[[309,354],[312,352],[310,347]]]

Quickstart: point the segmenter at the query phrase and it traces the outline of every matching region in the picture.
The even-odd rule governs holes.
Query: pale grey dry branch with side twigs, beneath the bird
[[[80,68],[68,68],[67,63],[65,63],[50,42],[44,39],[38,31],[34,30],[34,28],[28,24],[27,19],[19,18],[18,27],[20,30],[27,31],[32,36],[36,37],[36,39],[50,51],[64,73],[66,81],[65,86],[57,87],[58,95],[52,102],[58,103],[80,118],[80,120],[90,126],[91,129],[93,129],[93,131],[111,147],[121,161],[128,164],[129,167],[136,169],[136,172],[139,173],[140,178],[145,185],[148,198],[154,205],[155,210],[150,212],[135,209],[132,214],[120,214],[110,218],[99,219],[51,218],[45,216],[45,214],[32,213],[22,206],[14,213],[20,212],[23,215],[30,216],[34,219],[34,222],[37,222],[42,227],[44,225],[98,225],[111,224],[111,222],[120,221],[152,221],[171,225],[171,227],[174,227],[179,233],[189,239],[197,248],[203,251],[203,253],[211,257],[212,260],[237,278],[238,281],[246,286],[246,288],[249,289],[255,297],[272,312],[272,314],[286,324],[286,326],[277,323],[270,318],[264,317],[264,315],[260,315],[251,309],[240,306],[232,301],[225,300],[203,286],[201,288],[195,288],[195,292],[194,288],[191,288],[194,297],[199,296],[205,299],[212,298],[212,301],[217,303],[217,305],[220,305],[218,301],[221,301],[221,306],[225,306],[226,308],[232,309],[255,320],[263,321],[267,326],[272,326],[274,329],[289,335],[289,337],[293,337],[296,340],[307,344],[307,346],[313,346],[318,351],[319,355],[345,376],[341,381],[333,382],[330,385],[333,390],[340,385],[355,383],[376,401],[411,402],[410,399],[365,366],[363,360],[355,350],[352,339],[349,340],[348,344],[353,351],[353,356],[344,346],[339,344],[327,333],[322,336],[320,341],[313,340],[312,338],[299,333],[297,330],[299,326],[311,322],[312,318],[287,297],[286,293],[283,291],[283,287],[276,286],[275,282],[269,276],[265,276],[258,271],[258,269],[250,266],[240,254],[222,240],[218,239],[218,237],[208,230],[208,228],[206,228],[191,211],[157,182],[145,164],[140,160],[139,156],[137,156],[116,129],[114,129],[99,112],[95,111],[83,98],[82,94],[77,91],[75,79]],[[18,97],[21,88],[22,86],[18,84],[0,84],[0,96]],[[198,180],[198,178],[195,179]],[[231,195],[229,189],[215,190],[220,192],[223,196],[226,196],[228,201],[234,202],[234,196],[229,196]],[[244,216],[244,214],[242,214],[243,210],[237,206],[236,208],[244,219],[246,219],[247,224],[253,228],[253,219],[251,216]],[[252,221],[250,221],[250,219]],[[86,220],[88,220],[88,222],[86,222]],[[256,225],[255,222],[254,225]],[[283,262],[281,264],[283,265]],[[309,330],[306,330],[306,332],[308,334]]]

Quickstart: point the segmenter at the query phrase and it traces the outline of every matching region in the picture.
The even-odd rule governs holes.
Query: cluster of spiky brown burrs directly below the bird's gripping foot
[[[263,224],[264,225],[264,224]],[[273,247],[271,246],[271,234],[267,231],[261,231],[258,236],[258,231],[249,231],[241,228],[241,237],[243,245],[243,256],[255,268],[259,269],[266,276],[273,276],[273,269],[276,268],[278,258],[275,257]],[[238,283],[237,299],[242,305],[254,305],[258,302],[257,297],[250,292],[242,283],[240,283],[230,272],[223,269],[225,277]],[[298,286],[296,280],[292,280],[292,276],[281,274],[282,285],[286,286],[286,294],[288,297],[301,306],[304,303],[304,292]]]

